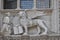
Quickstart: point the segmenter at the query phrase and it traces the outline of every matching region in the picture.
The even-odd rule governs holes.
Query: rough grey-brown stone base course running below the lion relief
[[[0,40],[60,40],[60,36],[0,36]]]

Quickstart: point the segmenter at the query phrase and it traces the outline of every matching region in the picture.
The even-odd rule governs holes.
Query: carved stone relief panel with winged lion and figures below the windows
[[[1,33],[4,35],[48,35],[51,33],[51,16],[43,11],[1,13]]]

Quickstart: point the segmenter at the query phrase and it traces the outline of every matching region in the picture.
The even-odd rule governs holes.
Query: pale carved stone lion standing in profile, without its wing
[[[44,34],[47,34],[47,27],[44,25],[45,21],[41,20],[41,19],[35,19],[35,20],[32,20],[30,18],[27,18],[27,15],[25,12],[19,12],[18,13],[21,17],[20,19],[20,23],[24,26],[25,28],[25,33],[24,35],[27,35],[28,33],[28,26],[32,26],[32,24],[34,25],[38,25],[37,29],[38,29],[38,32],[37,34],[35,35],[39,35],[40,33],[40,27],[43,28],[45,31],[42,32],[40,35],[44,35]],[[41,15],[42,16],[42,15]]]

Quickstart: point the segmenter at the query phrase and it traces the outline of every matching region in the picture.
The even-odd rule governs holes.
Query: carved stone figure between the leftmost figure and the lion
[[[21,34],[23,33],[23,28],[21,24],[19,23],[20,15],[16,14],[15,17],[13,17],[12,24],[13,24],[13,31],[14,34]]]

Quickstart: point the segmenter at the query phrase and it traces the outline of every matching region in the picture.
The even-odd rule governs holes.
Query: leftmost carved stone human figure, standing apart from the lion
[[[1,32],[4,34],[9,35],[11,33],[11,26],[10,26],[10,13],[5,13],[6,16],[3,18],[3,27],[1,29]]]

